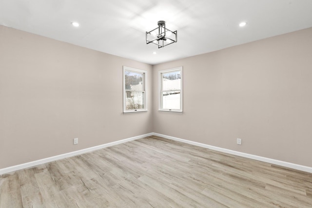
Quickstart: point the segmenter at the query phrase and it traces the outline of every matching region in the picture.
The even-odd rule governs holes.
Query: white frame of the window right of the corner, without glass
[[[163,93],[163,79],[162,79],[162,74],[170,73],[170,72],[175,72],[175,71],[180,71],[180,79],[181,79],[181,86],[180,90],[172,90],[172,91],[180,91],[180,109],[164,109],[162,107],[162,93]],[[169,91],[166,91],[169,92]],[[175,67],[172,69],[165,69],[158,71],[158,111],[164,111],[164,112],[178,112],[182,113],[183,112],[183,67]]]

